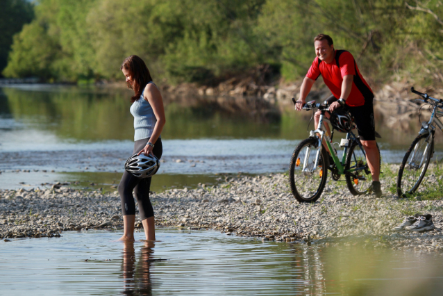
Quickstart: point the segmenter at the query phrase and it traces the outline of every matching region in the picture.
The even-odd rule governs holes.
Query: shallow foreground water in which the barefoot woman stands
[[[158,229],[0,242],[3,295],[440,295],[443,256]],[[142,238],[142,233],[136,233]],[[156,261],[166,259],[167,261]]]

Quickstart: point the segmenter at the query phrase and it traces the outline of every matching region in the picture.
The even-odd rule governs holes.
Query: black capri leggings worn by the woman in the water
[[[133,154],[136,154],[142,150],[149,139],[137,140],[134,143]],[[153,154],[158,159],[162,157],[163,147],[162,140],[159,138],[154,145]],[[131,154],[131,155],[133,155]],[[145,179],[139,179],[133,176],[131,173],[124,172],[122,181],[119,183],[119,194],[122,200],[122,213],[123,215],[135,215],[135,198],[137,199],[138,211],[140,211],[140,217],[145,220],[149,217],[153,217],[154,210],[152,208],[151,201],[149,200],[149,189],[151,188],[151,177]]]

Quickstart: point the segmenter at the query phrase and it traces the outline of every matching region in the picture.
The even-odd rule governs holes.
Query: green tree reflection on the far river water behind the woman
[[[130,93],[121,89],[53,87],[0,88],[1,117],[24,123],[25,129],[51,131],[60,139],[132,140]],[[266,101],[254,98],[168,99],[167,139],[279,138],[281,115]],[[1,126],[2,124],[0,124]]]

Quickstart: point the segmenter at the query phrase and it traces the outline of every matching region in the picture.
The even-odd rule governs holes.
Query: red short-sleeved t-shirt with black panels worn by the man
[[[335,58],[338,57],[340,68],[337,66]],[[353,83],[351,93],[346,99],[346,105],[351,107],[363,106],[365,99],[374,98],[371,88],[358,70],[356,60],[349,51],[335,51],[335,57],[332,63],[327,64],[315,58],[309,68],[306,77],[317,80],[319,76],[323,76],[324,83],[337,99],[342,95],[342,83],[345,75],[353,75]]]

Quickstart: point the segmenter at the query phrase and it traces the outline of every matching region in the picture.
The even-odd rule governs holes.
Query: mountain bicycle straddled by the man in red
[[[292,98],[294,104],[296,101]],[[326,135],[324,129],[324,115],[329,111],[328,104],[315,104],[310,101],[303,106],[304,110],[318,109],[321,111],[319,124],[315,131],[310,131],[309,138],[302,140],[294,149],[290,161],[290,187],[292,195],[299,202],[315,202],[319,199],[326,186],[328,170],[331,170],[332,178],[338,181],[344,174],[346,186],[352,195],[364,195],[372,190],[372,176],[366,161],[365,149],[358,136],[351,130],[346,133],[346,138],[340,142],[340,147],[344,147],[342,160],[337,156],[337,151],[331,144],[335,127],[331,133],[331,139]],[[353,123],[352,123],[353,124]],[[353,124],[353,129],[356,126]],[[380,135],[376,135],[381,138]],[[331,151],[333,165],[330,167],[329,154],[324,145]],[[378,154],[380,149],[378,148]],[[327,168],[328,170],[325,170]]]

